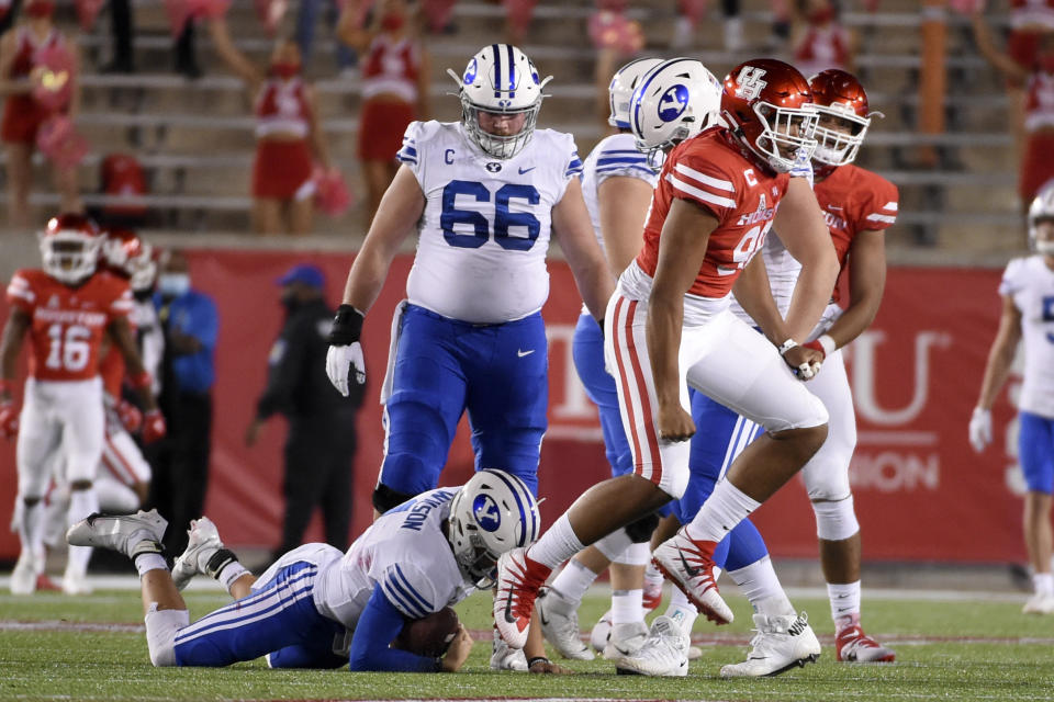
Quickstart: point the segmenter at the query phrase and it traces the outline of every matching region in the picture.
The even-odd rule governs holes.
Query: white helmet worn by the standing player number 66
[[[447,72],[458,83],[461,99],[461,122],[469,136],[494,158],[507,159],[519,154],[535,132],[541,91],[552,76],[539,79],[538,69],[527,55],[512,44],[492,44],[469,59],[464,73]],[[509,136],[490,134],[480,128],[480,112],[527,115],[523,128]]]

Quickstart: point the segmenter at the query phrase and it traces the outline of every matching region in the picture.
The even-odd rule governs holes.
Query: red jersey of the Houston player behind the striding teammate
[[[897,186],[859,166],[840,166],[812,189],[831,230],[841,270],[845,270],[853,237],[866,229],[885,229],[897,219]],[[841,275],[841,273],[839,273]],[[834,302],[839,299],[834,287]]]

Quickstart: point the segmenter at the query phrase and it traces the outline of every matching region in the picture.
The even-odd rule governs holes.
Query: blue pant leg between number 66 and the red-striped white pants
[[[579,317],[574,328],[572,344],[574,367],[585,386],[601,418],[604,432],[604,450],[607,463],[612,466],[612,476],[626,475],[633,469],[633,456],[623,429],[623,417],[618,409],[618,389],[615,378],[604,369],[604,333],[601,326],[590,315]]]

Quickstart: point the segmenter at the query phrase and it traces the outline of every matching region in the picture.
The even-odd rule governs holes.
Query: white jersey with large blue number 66
[[[484,152],[459,122],[413,122],[401,162],[425,194],[411,304],[473,324],[522,319],[549,296],[552,207],[582,172],[570,134],[536,129],[516,156]]]

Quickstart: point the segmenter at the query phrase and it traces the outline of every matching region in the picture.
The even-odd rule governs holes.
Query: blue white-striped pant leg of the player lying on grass
[[[180,666],[221,667],[254,660],[288,646],[333,642],[344,627],[315,609],[318,566],[294,563],[271,582],[227,607],[206,614],[176,634]]]

